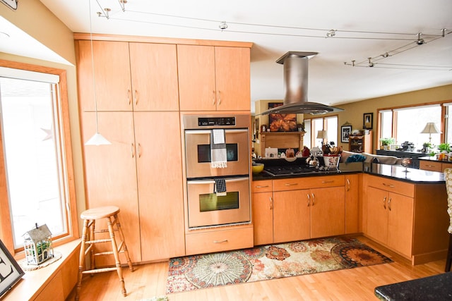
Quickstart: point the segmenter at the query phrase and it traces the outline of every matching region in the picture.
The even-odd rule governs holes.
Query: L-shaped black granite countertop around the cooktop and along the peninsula
[[[284,159],[267,159],[259,160],[263,164],[301,164],[302,161],[297,159],[295,162],[284,162]],[[341,173],[369,173],[375,176],[383,176],[402,180],[409,183],[444,183],[444,174],[437,171],[424,171],[417,168],[405,168],[400,165],[388,164],[374,164],[363,162],[340,163],[337,171],[321,172],[321,173],[307,173],[296,176],[270,176],[266,173],[253,174],[253,180],[277,180],[282,178],[300,178],[312,176],[329,176],[338,175]]]

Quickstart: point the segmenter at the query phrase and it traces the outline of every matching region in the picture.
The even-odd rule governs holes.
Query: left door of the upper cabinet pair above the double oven
[[[215,49],[177,45],[181,111],[215,111]]]

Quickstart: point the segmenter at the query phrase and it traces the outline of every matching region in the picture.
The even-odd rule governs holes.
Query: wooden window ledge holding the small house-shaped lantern
[[[49,293],[56,293],[53,288],[59,289],[63,294],[62,300],[64,300],[71,293],[77,281],[80,242],[81,240],[73,240],[54,247],[55,252],[61,253],[61,259],[34,271],[25,271],[23,278],[4,295],[2,301],[35,300],[37,297],[41,299],[41,297],[45,297],[43,292],[47,285],[49,285]],[[57,299],[49,295],[48,300]]]

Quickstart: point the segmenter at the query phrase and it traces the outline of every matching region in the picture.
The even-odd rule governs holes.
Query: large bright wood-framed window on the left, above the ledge
[[[0,206],[10,212],[8,220],[1,215],[0,238],[16,252],[35,223],[46,223],[54,241],[72,238],[73,231],[78,236],[69,111],[66,90],[61,92],[66,73],[20,66],[0,67],[1,180],[6,183]]]

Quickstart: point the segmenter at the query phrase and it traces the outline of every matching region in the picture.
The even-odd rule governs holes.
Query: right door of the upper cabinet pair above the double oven
[[[249,48],[215,47],[215,82],[218,111],[249,111]]]

